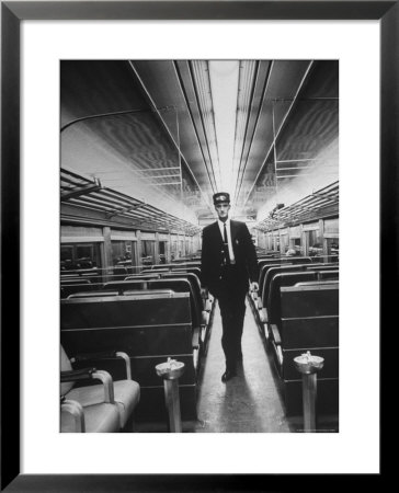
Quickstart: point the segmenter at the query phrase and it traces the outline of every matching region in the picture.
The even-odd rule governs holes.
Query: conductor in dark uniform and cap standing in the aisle
[[[218,220],[203,230],[201,276],[204,295],[209,290],[217,298],[221,314],[221,346],[226,371],[221,381],[237,374],[242,359],[241,336],[246,314],[246,295],[258,290],[258,261],[251,234],[244,222],[229,219],[230,196],[214,195]]]

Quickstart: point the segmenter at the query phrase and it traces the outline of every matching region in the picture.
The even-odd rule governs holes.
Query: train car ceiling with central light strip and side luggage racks
[[[60,126],[70,217],[80,206],[156,229],[168,211],[194,232],[227,190],[233,216],[266,230],[277,204],[282,223],[319,190],[338,204],[334,60],[62,61]]]

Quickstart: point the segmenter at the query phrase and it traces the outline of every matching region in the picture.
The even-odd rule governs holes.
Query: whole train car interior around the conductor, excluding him
[[[202,232],[256,251],[221,381]],[[60,432],[339,432],[339,61],[60,62]]]

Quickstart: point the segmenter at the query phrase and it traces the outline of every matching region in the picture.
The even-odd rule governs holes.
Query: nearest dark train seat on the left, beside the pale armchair
[[[166,416],[163,382],[155,367],[169,356],[185,365],[179,381],[182,419],[196,416],[198,330],[193,330],[190,294],[171,296],[168,291],[155,295],[146,290],[139,296],[124,291],[103,299],[67,299],[60,306],[61,343],[67,354],[111,352],[115,347],[128,354],[133,378],[140,386],[137,421]],[[115,383],[125,379],[118,358],[99,364],[93,359],[91,365],[109,371]]]

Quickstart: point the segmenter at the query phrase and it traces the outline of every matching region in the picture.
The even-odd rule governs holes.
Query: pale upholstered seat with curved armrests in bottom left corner
[[[66,395],[68,400],[77,401],[83,408],[86,431],[89,429],[98,432],[109,432],[113,431],[113,415],[115,408],[118,415],[118,428],[124,428],[128,419],[133,415],[135,408],[137,406],[140,399],[140,387],[139,385],[132,380],[130,371],[130,360],[125,353],[112,352],[112,354],[93,354],[93,355],[81,355],[76,356],[71,359],[68,358],[64,347],[60,346],[61,352],[61,375],[67,371],[72,371],[72,363],[89,363],[93,359],[99,359],[101,357],[116,356],[123,358],[126,363],[126,379],[112,381],[111,376],[106,371],[101,371],[101,374],[106,374],[105,378],[109,383],[110,393],[104,390],[102,385],[93,385],[88,387],[73,387],[73,382],[61,383],[61,394]],[[81,370],[77,370],[79,372]],[[95,375],[94,371],[93,375]],[[66,375],[66,374],[64,374]],[[67,376],[65,377],[67,378]],[[62,387],[64,386],[64,387]],[[106,388],[105,388],[106,389]],[[104,394],[105,391],[105,394]],[[105,405],[106,404],[106,405]],[[69,429],[70,421],[65,420],[65,426]],[[68,424],[69,423],[69,424]]]

